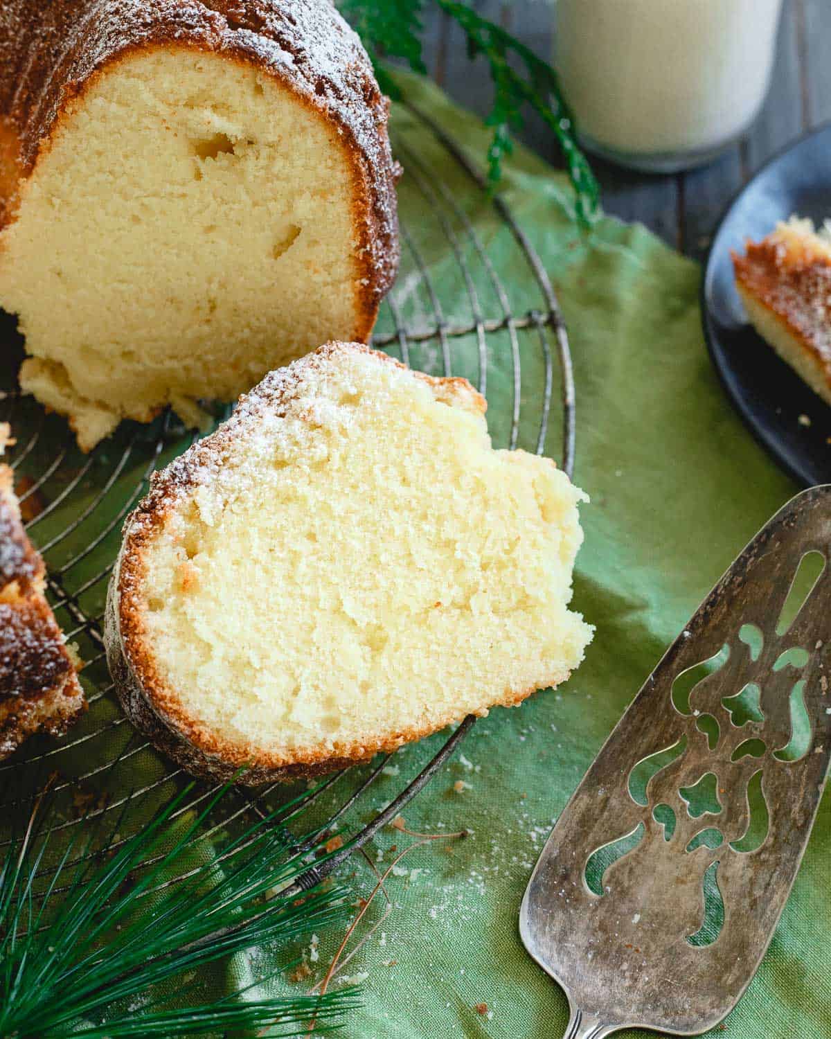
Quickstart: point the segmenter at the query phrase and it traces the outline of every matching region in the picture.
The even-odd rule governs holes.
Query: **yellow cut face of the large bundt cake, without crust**
[[[23,388],[88,449],[352,338],[350,178],[337,129],[268,73],[184,47],[105,66],[0,234]]]

